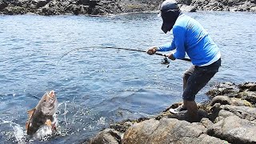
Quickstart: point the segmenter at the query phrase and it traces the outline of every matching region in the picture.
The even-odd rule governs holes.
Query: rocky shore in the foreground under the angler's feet
[[[256,82],[221,83],[207,94],[211,100],[199,105],[198,122],[170,114],[175,103],[154,118],[111,125],[84,143],[256,143]]]

